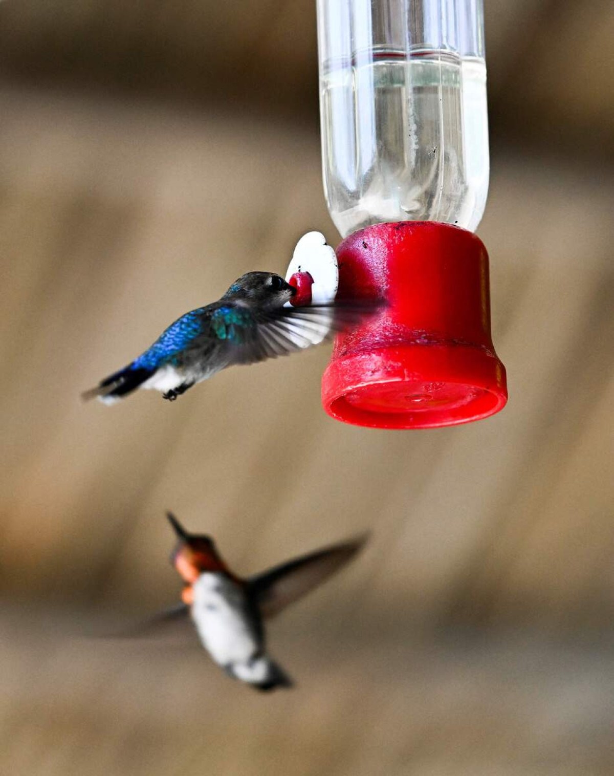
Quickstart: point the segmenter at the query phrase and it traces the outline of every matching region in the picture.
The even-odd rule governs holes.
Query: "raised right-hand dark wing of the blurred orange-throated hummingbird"
[[[247,593],[257,603],[263,617],[274,617],[349,563],[367,539],[368,534],[364,534],[274,566],[247,579]]]

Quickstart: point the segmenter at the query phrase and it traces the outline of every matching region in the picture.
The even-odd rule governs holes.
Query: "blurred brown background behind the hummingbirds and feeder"
[[[488,421],[319,406],[327,348],[78,400],[323,230],[312,0],[0,4],[0,773],[614,772],[614,6],[487,0]],[[374,528],[271,625],[262,697],[178,639],[164,510],[240,573]]]

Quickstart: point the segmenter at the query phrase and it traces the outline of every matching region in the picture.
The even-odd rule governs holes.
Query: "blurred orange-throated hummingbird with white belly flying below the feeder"
[[[181,604],[154,622],[191,615],[202,646],[230,677],[260,691],[291,687],[288,674],[267,653],[264,619],[340,570],[362,549],[367,536],[242,578],[229,570],[211,537],[188,533],[171,512],[167,518],[178,537],[171,563],[185,586]]]

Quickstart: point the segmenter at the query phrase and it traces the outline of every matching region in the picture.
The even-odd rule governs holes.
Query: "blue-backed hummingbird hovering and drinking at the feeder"
[[[347,303],[291,307],[296,289],[274,272],[247,272],[217,302],[175,320],[150,348],[82,393],[105,404],[137,388],[173,401],[233,364],[253,364],[316,345],[377,306]]]

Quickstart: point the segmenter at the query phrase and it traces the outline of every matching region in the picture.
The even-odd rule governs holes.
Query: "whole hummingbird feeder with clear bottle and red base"
[[[344,237],[328,293],[386,301],[337,335],[326,412],[375,428],[495,414],[505,367],[473,234],[488,192],[482,2],[318,0],[317,11],[324,192]],[[292,268],[309,303],[313,273]]]

